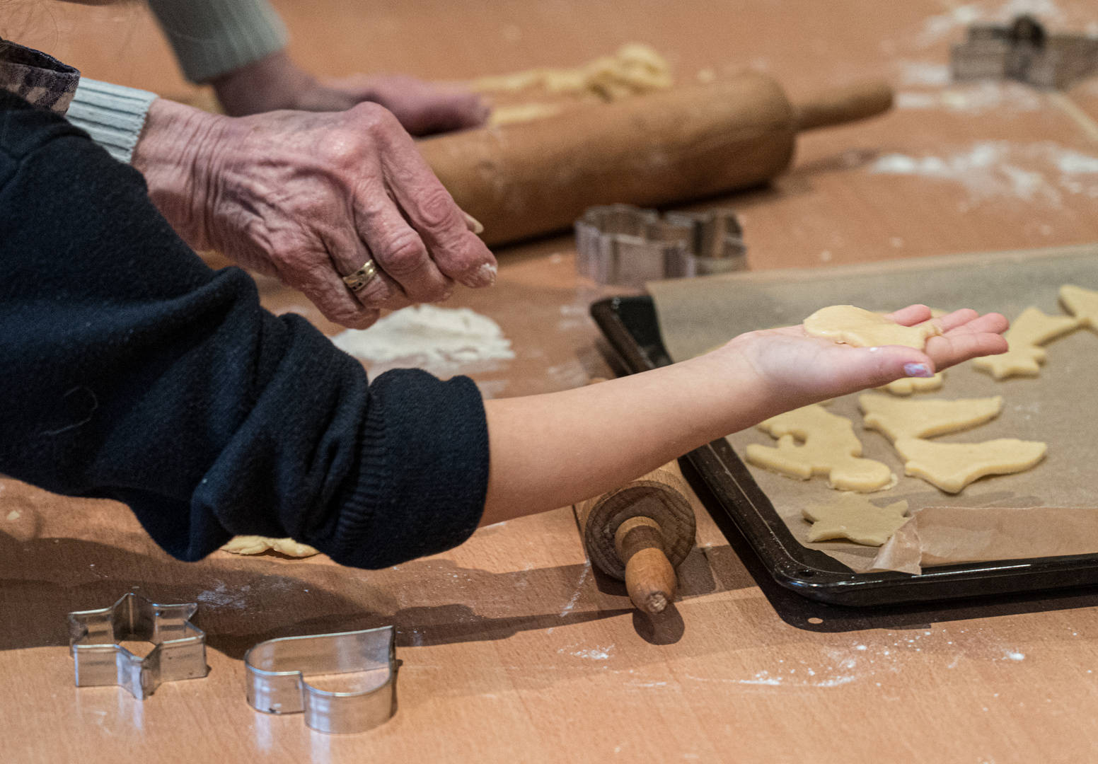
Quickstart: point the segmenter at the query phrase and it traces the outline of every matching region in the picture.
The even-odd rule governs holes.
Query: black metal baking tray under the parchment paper
[[[591,315],[626,373],[671,363],[652,297],[602,300],[591,306]],[[832,605],[895,605],[1098,584],[1095,554],[942,565],[921,575],[853,573],[793,537],[727,440],[714,440],[683,459],[692,468],[683,470],[684,474],[693,478],[725,536],[742,536],[778,584],[810,599]],[[697,485],[697,480],[704,485]]]

